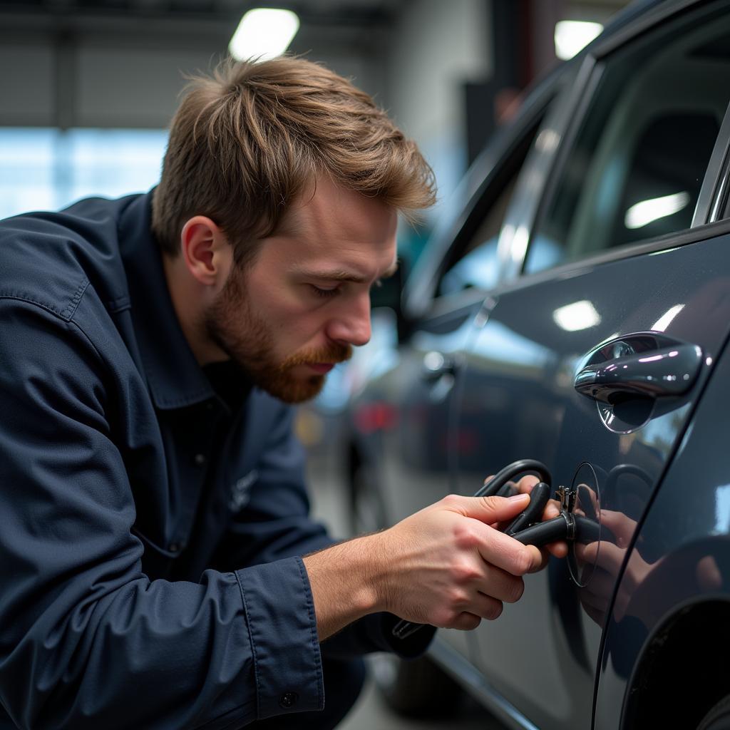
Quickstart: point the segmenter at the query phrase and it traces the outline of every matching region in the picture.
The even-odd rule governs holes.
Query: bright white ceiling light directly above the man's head
[[[295,12],[257,7],[241,18],[228,50],[237,61],[265,61],[284,53],[298,30],[299,17]]]

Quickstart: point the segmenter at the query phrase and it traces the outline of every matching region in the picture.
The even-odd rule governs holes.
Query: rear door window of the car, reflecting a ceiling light
[[[606,58],[526,272],[691,226],[730,99],[730,19],[675,20]],[[552,255],[545,255],[548,250]]]

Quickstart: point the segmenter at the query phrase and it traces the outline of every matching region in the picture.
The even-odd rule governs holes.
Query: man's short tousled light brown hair
[[[177,255],[185,222],[206,215],[242,264],[318,176],[407,218],[435,199],[415,142],[345,78],[302,58],[223,61],[185,88],[153,197],[153,232]]]

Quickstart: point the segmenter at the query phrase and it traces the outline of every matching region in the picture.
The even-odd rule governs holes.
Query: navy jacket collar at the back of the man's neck
[[[215,397],[172,305],[162,255],[150,228],[152,193],[131,200],[119,218],[131,313],[155,406],[183,408]]]

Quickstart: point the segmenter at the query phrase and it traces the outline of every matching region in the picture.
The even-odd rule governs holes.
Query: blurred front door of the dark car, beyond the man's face
[[[359,356],[369,362],[363,393],[353,400],[353,440],[347,472],[353,491],[356,531],[379,529],[437,502],[453,491],[447,415],[458,374],[458,353],[466,345],[472,320],[499,272],[497,235],[545,110],[562,78],[537,90],[520,118],[485,150],[456,192],[461,204],[436,231],[410,280],[410,331],[398,342],[389,337],[392,318],[373,312],[373,337]],[[464,211],[466,203],[466,214]],[[478,272],[458,271],[477,234],[491,242]],[[458,231],[456,238],[453,231]],[[451,278],[445,277],[451,272]],[[469,276],[469,283],[461,279]],[[449,632],[448,641],[466,654],[466,637]]]

